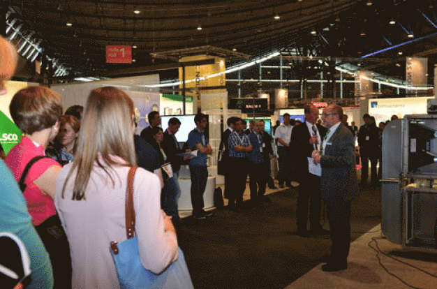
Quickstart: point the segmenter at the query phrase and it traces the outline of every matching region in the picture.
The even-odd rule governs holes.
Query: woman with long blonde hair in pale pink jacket
[[[134,130],[133,101],[127,94],[114,87],[91,91],[75,161],[64,166],[56,181],[55,202],[71,244],[73,288],[119,288],[109,246],[126,240],[128,171],[136,163]],[[175,228],[161,211],[160,195],[158,177],[138,168],[133,181],[135,235],[142,265],[155,274],[178,256]]]

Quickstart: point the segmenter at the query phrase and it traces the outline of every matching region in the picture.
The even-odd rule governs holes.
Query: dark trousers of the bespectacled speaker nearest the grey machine
[[[346,262],[350,247],[350,200],[326,201],[332,262]]]

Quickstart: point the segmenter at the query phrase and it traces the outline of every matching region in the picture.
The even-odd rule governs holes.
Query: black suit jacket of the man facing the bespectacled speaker
[[[320,145],[325,138],[327,129],[320,124],[316,124],[318,133],[320,134]],[[290,138],[290,152],[292,157],[295,160],[296,164],[296,173],[297,177],[300,181],[304,180],[308,177],[308,158],[311,157],[311,154],[314,150],[313,144],[309,143],[309,139],[311,138],[311,133],[306,126],[306,123],[299,124],[299,126],[295,126],[291,133]]]

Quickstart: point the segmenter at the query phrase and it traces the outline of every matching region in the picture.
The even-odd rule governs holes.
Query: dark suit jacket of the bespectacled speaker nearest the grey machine
[[[343,124],[340,124],[327,141],[320,165],[320,191],[323,200],[336,202],[352,200],[358,196],[353,135]]]

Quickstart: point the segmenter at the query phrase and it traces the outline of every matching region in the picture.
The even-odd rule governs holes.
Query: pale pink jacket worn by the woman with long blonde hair
[[[122,163],[121,158],[117,158]],[[117,272],[110,254],[110,242],[126,240],[125,207],[126,166],[108,168],[110,177],[102,168],[94,166],[85,200],[72,200],[73,172],[66,184],[65,198],[62,187],[71,168],[65,165],[59,172],[55,203],[70,243],[73,265],[73,288],[119,288]],[[138,168],[133,182],[138,249],[142,265],[160,273],[177,258],[177,238],[164,232],[161,213],[161,184],[156,175]]]

